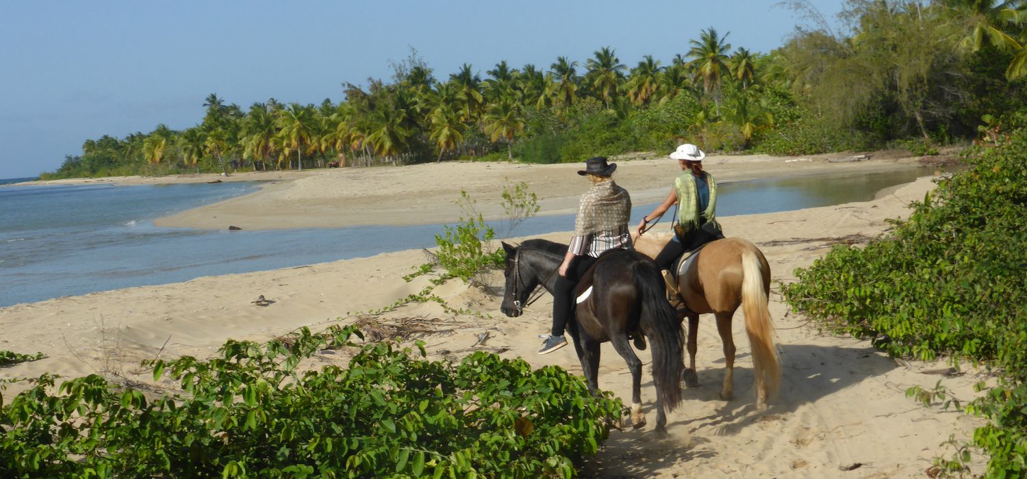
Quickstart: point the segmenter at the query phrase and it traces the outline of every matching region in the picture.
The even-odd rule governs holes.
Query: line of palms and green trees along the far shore
[[[412,49],[389,81],[319,105],[248,110],[215,93],[195,126],[87,139],[44,177],[370,166],[446,159],[580,161],[673,148],[811,154],[965,141],[1025,105],[1027,2],[848,0],[769,53],[714,27],[664,65],[605,46],[547,69],[500,61],[447,77]]]

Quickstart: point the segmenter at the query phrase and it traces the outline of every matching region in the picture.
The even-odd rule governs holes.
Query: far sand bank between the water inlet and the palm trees
[[[618,163],[614,179],[632,192],[636,205],[655,203],[668,192],[671,178],[680,173],[678,164],[654,155],[630,155]],[[829,161],[846,154],[803,157],[768,155],[710,155],[708,171],[722,184],[784,176],[831,173],[882,172],[923,167],[918,157],[897,152],[878,152],[870,159],[852,162]],[[456,203],[466,191],[485,219],[505,216],[502,189],[505,184],[524,182],[538,197],[539,215],[573,214],[578,198],[587,189],[578,181],[577,163],[524,164],[509,162],[446,162],[332,168],[304,171],[268,171],[183,174],[173,176],[121,176],[32,182],[29,185],[167,185],[259,182],[257,191],[210,205],[158,217],[153,225],[163,228],[225,230],[287,230],[303,228],[344,228],[352,226],[413,226],[446,224],[463,211]],[[16,184],[26,185],[26,184]]]

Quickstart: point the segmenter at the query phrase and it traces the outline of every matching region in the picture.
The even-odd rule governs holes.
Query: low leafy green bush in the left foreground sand
[[[570,477],[620,416],[558,367],[427,361],[353,332],[152,362],[185,391],[156,399],[96,374],[51,394],[41,376],[0,409],[0,476]],[[298,368],[322,348],[358,351],[348,367]]]

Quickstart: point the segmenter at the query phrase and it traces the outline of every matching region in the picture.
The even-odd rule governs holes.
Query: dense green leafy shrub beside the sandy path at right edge
[[[966,407],[992,420],[974,439],[991,454],[989,474],[1021,477],[1027,474],[1027,128],[990,134],[966,162],[968,170],[941,181],[888,237],[865,248],[835,247],[797,270],[799,282],[783,292],[797,311],[872,337],[891,354],[993,366],[1001,385]]]

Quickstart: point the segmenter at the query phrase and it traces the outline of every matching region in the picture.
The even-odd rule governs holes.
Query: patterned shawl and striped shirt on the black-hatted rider
[[[633,249],[627,229],[631,214],[632,198],[627,190],[618,187],[613,179],[594,184],[581,195],[570,251],[599,257],[613,248]]]

